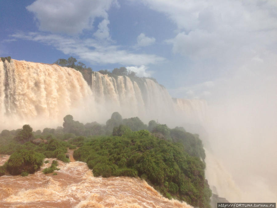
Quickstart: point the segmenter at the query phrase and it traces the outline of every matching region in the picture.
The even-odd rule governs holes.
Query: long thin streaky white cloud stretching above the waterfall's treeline
[[[31,40],[56,47],[64,54],[76,55],[92,64],[148,65],[165,59],[152,54],[135,54],[116,45],[102,45],[94,39],[68,38],[39,32],[16,33],[13,38]]]

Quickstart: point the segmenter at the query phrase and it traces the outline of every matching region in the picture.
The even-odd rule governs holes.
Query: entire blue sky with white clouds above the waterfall
[[[124,66],[173,97],[212,100],[275,81],[275,0],[5,1],[0,16],[1,56]]]

